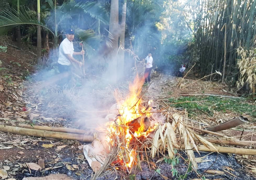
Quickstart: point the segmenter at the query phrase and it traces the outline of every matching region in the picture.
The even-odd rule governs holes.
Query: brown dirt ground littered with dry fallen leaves
[[[5,68],[0,71],[0,125],[17,126],[22,123],[69,127],[85,129],[88,131],[88,135],[92,135],[97,124],[100,124],[101,119],[104,119],[107,114],[106,111],[115,103],[115,87],[95,85],[97,79],[90,78],[90,80],[86,79],[87,84],[82,93],[79,90],[80,87],[58,89],[56,86],[35,92],[35,89],[44,81],[35,81],[38,72],[34,67],[36,64],[34,52],[28,49],[18,50],[11,46],[8,46],[7,53],[0,52],[2,62],[0,67]],[[203,80],[196,81],[193,77],[182,79],[157,72],[152,74],[152,79],[152,84],[144,86],[142,91],[145,92],[145,99],[153,99],[155,102],[168,98],[170,92],[171,95],[236,96],[233,92],[229,92],[225,85]],[[179,83],[180,86],[177,86]],[[191,83],[193,84],[190,85]],[[120,96],[127,93],[127,87],[128,82],[119,86]],[[80,104],[81,101],[90,103]],[[78,109],[81,106],[82,108]],[[202,118],[206,119],[210,125],[216,125],[220,119],[226,121],[237,115],[240,114],[215,112],[213,117],[205,116]],[[252,119],[246,114],[244,116]],[[95,123],[95,118],[97,123]],[[254,123],[239,127],[246,129],[241,140],[256,140]],[[241,131],[237,129],[226,130],[222,133],[229,136],[241,135]],[[66,174],[73,179],[90,179],[93,171],[83,155],[81,146],[84,144],[86,143],[72,140],[38,138],[0,132],[0,169],[6,169],[8,178],[15,178],[16,180],[59,173]],[[254,147],[250,146],[249,148]],[[45,168],[40,170],[28,168],[28,163],[38,164],[40,159],[43,159]],[[237,169],[239,173],[236,174],[237,177],[224,176],[224,179],[244,179],[243,177],[254,179],[256,177],[254,174],[256,172],[254,157],[239,155],[236,156],[236,160],[234,159],[232,161],[240,163],[234,166],[239,166],[239,170]],[[157,175],[154,170],[149,170],[146,167],[147,164],[144,166],[143,171],[148,172],[148,175],[140,172],[136,175],[136,179],[163,178]],[[161,166],[163,166],[162,169],[165,169],[163,174],[173,179],[170,173],[171,167],[169,165]],[[238,176],[238,174],[244,176]],[[191,178],[193,178],[192,175]],[[210,176],[208,178],[212,179]],[[223,177],[219,178],[223,179]],[[106,179],[106,177],[99,179]]]

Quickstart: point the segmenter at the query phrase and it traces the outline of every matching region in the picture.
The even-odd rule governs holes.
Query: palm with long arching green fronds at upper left
[[[96,2],[86,2],[86,3],[77,3],[74,2],[68,2],[64,3],[61,6],[54,6],[52,0],[47,0],[50,9],[53,10],[56,9],[58,11],[58,15],[54,13],[54,16],[50,16],[48,21],[41,21],[37,19],[36,16],[29,14],[28,12],[30,9],[26,9],[25,7],[20,8],[20,15],[18,15],[18,11],[15,9],[11,10],[5,10],[1,12],[0,15],[0,28],[14,28],[18,25],[39,25],[44,30],[47,30],[50,32],[54,39],[54,48],[57,48],[58,46],[58,32],[62,32],[61,29],[66,28],[65,21],[71,19],[70,22],[72,22],[72,18],[76,19],[76,16],[79,13],[83,14],[89,14],[91,18],[98,19],[103,24],[108,24],[108,14],[105,11],[104,8],[100,4],[97,4]],[[39,5],[39,4],[38,4]],[[40,6],[38,8],[40,10]],[[39,11],[40,12],[40,11]],[[53,20],[56,17],[56,21]],[[55,22],[55,25],[52,25],[52,22]],[[77,26],[77,24],[73,24]],[[9,27],[9,28],[7,28]],[[53,27],[53,28],[51,28]],[[38,31],[40,32],[40,31]],[[40,38],[38,38],[40,39]],[[40,46],[41,47],[41,46]],[[38,48],[40,49],[40,48]],[[40,50],[41,52],[41,50]],[[38,50],[39,53],[39,50]]]

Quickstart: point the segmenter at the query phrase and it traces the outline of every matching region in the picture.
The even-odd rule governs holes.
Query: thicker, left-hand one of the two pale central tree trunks
[[[110,19],[109,19],[109,38],[112,39],[112,51],[110,54],[111,70],[109,78],[112,79],[113,83],[117,80],[117,51],[118,51],[118,0],[111,0],[110,6]]]

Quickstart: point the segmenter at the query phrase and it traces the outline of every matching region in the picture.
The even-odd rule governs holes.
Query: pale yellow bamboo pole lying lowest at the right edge
[[[193,147],[191,147],[192,149]],[[206,147],[204,145],[197,146],[198,151],[206,151],[206,152],[219,152],[219,153],[230,153],[230,154],[244,154],[244,155],[256,155],[256,149],[243,149],[243,148],[231,148],[231,147],[222,147],[222,146],[215,146],[216,149],[213,147]],[[182,149],[185,149],[185,146],[182,145]],[[195,148],[193,148],[195,151]]]

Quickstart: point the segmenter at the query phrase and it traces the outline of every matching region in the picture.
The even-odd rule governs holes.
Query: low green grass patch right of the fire
[[[246,99],[226,98],[218,96],[181,96],[170,98],[169,102],[174,108],[187,109],[190,114],[205,113],[213,115],[214,111],[232,111],[256,117],[256,106]]]

